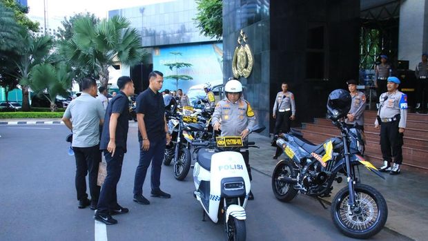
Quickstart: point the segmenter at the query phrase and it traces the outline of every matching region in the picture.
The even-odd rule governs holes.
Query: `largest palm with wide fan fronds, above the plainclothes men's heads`
[[[108,67],[115,61],[133,66],[146,55],[137,30],[129,26],[128,19],[119,16],[95,26],[90,17],[81,17],[74,23],[72,39],[62,46],[63,52],[72,66],[91,68],[106,87]]]

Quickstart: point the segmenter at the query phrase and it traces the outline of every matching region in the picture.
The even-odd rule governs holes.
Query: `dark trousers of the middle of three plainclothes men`
[[[107,214],[110,209],[117,206],[117,182],[119,182],[122,172],[122,163],[124,162],[125,150],[116,147],[115,155],[104,150],[104,157],[107,163],[107,176],[99,193],[97,209],[99,213]]]

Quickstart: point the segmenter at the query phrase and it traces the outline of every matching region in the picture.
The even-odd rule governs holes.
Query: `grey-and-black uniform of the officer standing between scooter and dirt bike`
[[[291,125],[291,115],[295,115],[295,102],[293,93],[280,91],[276,94],[273,113],[276,115],[275,128],[273,133],[289,133]]]

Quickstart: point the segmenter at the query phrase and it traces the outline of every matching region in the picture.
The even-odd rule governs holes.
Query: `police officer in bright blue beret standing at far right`
[[[389,171],[391,175],[400,173],[401,147],[407,120],[407,95],[398,91],[399,84],[400,79],[397,77],[388,78],[388,92],[380,95],[380,108],[375,122],[375,128],[379,129],[380,125],[380,149],[384,162],[379,171]]]

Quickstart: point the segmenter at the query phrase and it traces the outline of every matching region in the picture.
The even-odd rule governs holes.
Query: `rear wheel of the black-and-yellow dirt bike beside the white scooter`
[[[294,164],[291,160],[281,160],[273,170],[272,191],[275,197],[281,202],[290,202],[298,194],[298,191],[293,188],[293,184],[278,180],[278,177],[295,178],[297,173],[293,169],[293,166]]]

